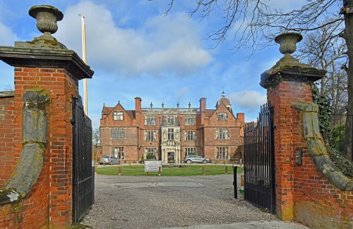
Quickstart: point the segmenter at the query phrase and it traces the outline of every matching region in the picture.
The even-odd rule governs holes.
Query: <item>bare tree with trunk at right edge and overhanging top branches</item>
[[[174,0],[169,1],[165,15],[172,10]],[[275,34],[301,32],[306,34],[330,25],[328,40],[345,39],[347,47],[347,121],[346,155],[352,161],[353,142],[353,0],[308,0],[303,6],[289,11],[272,6],[271,0],[197,0],[192,17],[201,20],[211,13],[222,14],[222,25],[208,35],[215,45],[222,44],[229,31],[234,34],[234,51],[268,46]],[[349,118],[350,117],[350,118]]]

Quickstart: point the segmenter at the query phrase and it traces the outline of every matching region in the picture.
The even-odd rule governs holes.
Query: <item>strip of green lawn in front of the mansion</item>
[[[138,166],[120,166],[121,175],[147,175],[143,165]],[[203,165],[188,165],[186,168],[162,168],[163,176],[183,176],[183,175],[203,175],[205,167],[205,175],[225,174],[225,166],[203,166]],[[237,173],[242,173],[243,168],[238,167]],[[228,174],[233,173],[232,166],[228,166]],[[105,166],[97,168],[97,174],[101,175],[118,175],[117,166]],[[149,172],[149,175],[158,175],[158,172]]]

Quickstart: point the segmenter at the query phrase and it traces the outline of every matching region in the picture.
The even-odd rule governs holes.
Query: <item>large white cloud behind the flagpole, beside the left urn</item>
[[[105,6],[91,1],[68,7],[54,35],[79,54],[80,13],[85,16],[87,61],[93,69],[100,66],[126,75],[187,75],[212,61],[208,51],[201,47],[201,31],[184,14],[152,16],[141,27],[126,29],[114,23],[112,13]]]

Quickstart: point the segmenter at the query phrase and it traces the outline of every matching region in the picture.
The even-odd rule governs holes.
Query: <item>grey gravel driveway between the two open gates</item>
[[[232,175],[96,175],[95,204],[83,223],[93,228],[167,228],[276,220],[243,198],[234,199],[232,180]]]

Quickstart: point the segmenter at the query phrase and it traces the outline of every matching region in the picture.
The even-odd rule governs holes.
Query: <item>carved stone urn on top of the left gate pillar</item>
[[[31,17],[37,19],[37,29],[40,32],[53,34],[58,30],[56,22],[64,18],[63,13],[54,6],[32,6],[28,11]]]

